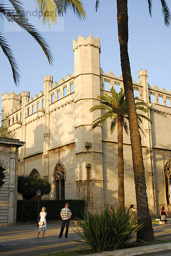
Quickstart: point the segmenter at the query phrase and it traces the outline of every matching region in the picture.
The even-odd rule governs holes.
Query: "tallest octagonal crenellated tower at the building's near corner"
[[[90,113],[99,104],[100,40],[92,35],[73,40],[75,86],[75,157],[76,193],[84,198],[89,210],[100,209],[103,201],[101,127],[90,131],[100,111]],[[90,196],[91,195],[91,196]]]

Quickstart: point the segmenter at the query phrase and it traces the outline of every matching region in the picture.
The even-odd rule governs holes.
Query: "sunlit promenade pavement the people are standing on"
[[[171,239],[171,224],[167,224],[165,228],[162,227],[162,225],[154,225],[153,227],[156,239]],[[65,239],[64,234],[62,238],[58,238],[60,229],[61,223],[48,224],[48,230],[45,233],[45,238],[42,239],[42,234],[40,234],[40,238],[37,239],[38,227],[36,225],[0,227],[0,256],[32,256],[41,253],[75,249],[78,244],[71,240],[80,239],[74,230],[78,229],[81,231],[81,228],[79,226],[75,226],[74,224],[70,224],[68,239]],[[143,247],[144,254],[145,247]],[[158,244],[158,248],[159,247],[161,248],[161,246]],[[165,248],[166,247],[167,246],[165,246]],[[171,250],[171,245],[167,248],[167,250]],[[124,249],[124,251],[125,250],[127,249]],[[155,252],[157,251],[161,250],[155,249]],[[117,255],[123,255],[123,252],[122,254]],[[137,252],[137,254],[134,255],[140,254]]]

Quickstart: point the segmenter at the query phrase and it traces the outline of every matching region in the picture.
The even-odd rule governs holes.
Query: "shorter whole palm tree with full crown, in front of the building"
[[[102,114],[99,118],[93,121],[93,126],[91,130],[96,128],[98,125],[103,125],[103,123],[110,118],[110,132],[113,134],[113,131],[117,125],[118,128],[118,206],[121,207],[121,210],[125,209],[125,196],[124,196],[124,157],[123,157],[123,128],[128,135],[128,113],[125,99],[125,92],[121,89],[119,94],[116,93],[116,90],[112,88],[110,90],[111,96],[107,93],[104,95],[98,96],[97,99],[101,100],[101,105],[95,105],[90,108],[90,112],[95,110],[104,110],[105,113]],[[134,99],[138,99],[135,97]],[[136,110],[147,112],[147,104],[145,102],[136,102]],[[145,107],[144,107],[145,106]],[[142,123],[141,118],[147,119],[149,122],[151,120],[143,115],[142,113],[137,113],[138,124]],[[139,126],[139,129],[142,131],[142,128]],[[142,131],[142,133],[144,133]]]

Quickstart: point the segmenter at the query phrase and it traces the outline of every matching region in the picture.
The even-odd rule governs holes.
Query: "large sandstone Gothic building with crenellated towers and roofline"
[[[44,91],[34,98],[29,92],[2,95],[3,122],[19,148],[19,174],[34,175],[52,183],[51,199],[84,198],[87,208],[118,204],[117,128],[110,134],[110,120],[90,131],[101,111],[89,112],[97,96],[123,88],[122,75],[100,68],[100,40],[92,35],[73,40],[74,72],[53,83],[44,76]],[[152,216],[171,204],[171,91],[148,84],[147,70],[139,71],[133,88],[140,101],[148,103],[143,121],[142,151]],[[136,204],[130,137],[124,131],[125,204]]]

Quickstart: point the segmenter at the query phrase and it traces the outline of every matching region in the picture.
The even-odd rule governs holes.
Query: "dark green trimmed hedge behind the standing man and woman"
[[[46,207],[46,220],[61,219],[61,209],[65,204],[69,204],[72,218],[81,218],[84,212],[84,200],[40,200],[40,212],[42,207]],[[38,217],[38,200],[17,200],[17,221],[36,221]]]

